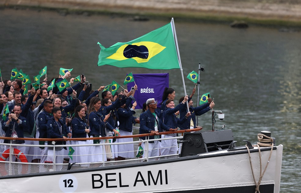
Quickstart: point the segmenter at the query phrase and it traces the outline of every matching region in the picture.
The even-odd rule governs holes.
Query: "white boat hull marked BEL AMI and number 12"
[[[273,147],[260,191],[278,193],[282,145]],[[270,147],[261,148],[262,171]],[[258,182],[258,149],[251,150]],[[255,192],[246,150],[217,151],[195,156],[127,164],[0,177],[4,192]]]

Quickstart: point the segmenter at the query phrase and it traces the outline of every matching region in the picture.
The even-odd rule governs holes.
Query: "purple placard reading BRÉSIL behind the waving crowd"
[[[169,86],[169,74],[133,74],[138,90],[135,92],[135,99],[137,101],[136,109],[142,109],[143,103],[147,99],[154,98],[158,100],[158,108],[161,107],[162,95],[165,87]],[[134,86],[134,82],[128,83],[128,91]]]

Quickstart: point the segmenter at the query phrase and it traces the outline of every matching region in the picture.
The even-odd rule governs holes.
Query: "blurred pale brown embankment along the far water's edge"
[[[0,0],[0,5],[301,22],[301,0]]]

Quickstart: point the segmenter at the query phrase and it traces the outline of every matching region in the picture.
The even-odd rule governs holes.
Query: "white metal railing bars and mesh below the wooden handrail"
[[[159,139],[152,139],[149,140],[149,136],[146,137],[146,140],[139,140],[139,141],[132,141],[132,142],[114,142],[114,143],[101,143],[101,144],[66,144],[66,145],[26,145],[26,144],[6,144],[6,143],[0,143],[0,145],[9,146],[9,160],[8,161],[1,161],[4,159],[3,155],[4,153],[0,153],[0,156],[2,159],[0,160],[0,176],[6,176],[6,175],[17,175],[17,174],[26,174],[26,173],[39,173],[39,172],[49,172],[49,171],[56,171],[57,167],[62,168],[62,170],[66,170],[68,167],[68,163],[56,163],[55,162],[55,156],[63,156],[64,158],[67,158],[68,155],[56,155],[55,147],[80,147],[80,146],[102,146],[102,151],[105,152],[105,146],[106,145],[120,145],[120,144],[133,144],[134,148],[134,155],[136,156],[135,152],[138,152],[138,144],[139,143],[145,143],[144,146],[144,158],[127,158],[126,160],[120,160],[120,161],[104,161],[107,154],[110,153],[102,153],[102,162],[88,162],[88,163],[76,163],[74,166],[72,166],[72,169],[80,169],[83,168],[92,168],[92,167],[104,167],[104,166],[112,166],[112,165],[122,165],[127,163],[139,163],[139,162],[145,162],[150,160],[156,160],[158,158],[173,158],[177,157],[176,155],[167,155],[167,156],[158,156],[158,157],[149,157],[148,150],[149,150],[149,142],[153,141],[161,141],[161,140],[173,140],[173,139],[182,139],[183,137],[171,137],[171,138],[159,138]],[[30,140],[30,138],[27,138],[27,140]],[[93,140],[93,138],[87,138],[87,140]],[[104,140],[103,140],[104,141]],[[14,158],[14,146],[25,146],[25,147],[53,147],[54,148],[54,154],[53,154],[53,163],[28,163],[28,162],[15,162],[13,160]],[[165,147],[170,148],[170,147]],[[162,149],[159,147],[158,149]],[[62,150],[63,151],[63,150]],[[124,152],[117,152],[117,153],[126,153],[126,152],[132,152],[132,151],[124,151]],[[25,153],[25,152],[22,152]],[[113,153],[113,152],[112,152]],[[28,155],[24,154],[26,157]],[[100,155],[100,154],[86,154],[86,156],[91,155]],[[33,155],[35,156],[35,155]],[[72,155],[72,156],[84,156],[84,155]],[[18,158],[17,158],[18,159]],[[70,159],[69,159],[70,160]],[[69,161],[70,163],[70,161]]]

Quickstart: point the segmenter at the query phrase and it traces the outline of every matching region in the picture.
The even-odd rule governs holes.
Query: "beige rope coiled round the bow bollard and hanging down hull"
[[[264,138],[266,138],[266,139],[264,139]],[[261,182],[261,180],[262,180],[262,177],[263,177],[264,173],[266,172],[266,168],[267,168],[268,165],[269,165],[269,161],[270,161],[271,156],[272,156],[272,151],[273,151],[273,146],[274,146],[274,144],[273,144],[273,139],[272,139],[271,137],[268,137],[268,136],[266,136],[266,135],[264,135],[264,134],[261,134],[261,133],[259,133],[259,134],[257,135],[257,139],[258,139],[259,142],[257,142],[257,145],[253,145],[253,146],[254,146],[254,147],[256,147],[256,146],[258,147],[258,153],[259,153],[259,161],[260,161],[260,177],[259,177],[258,183],[256,183],[256,180],[255,180],[255,175],[254,175],[253,166],[252,166],[252,162],[251,162],[251,153],[250,153],[249,147],[248,147],[247,145],[246,145],[246,147],[247,147],[247,150],[248,150],[248,152],[249,152],[250,166],[251,166],[251,170],[252,170],[253,180],[254,180],[255,185],[256,185],[255,193],[257,193],[257,192],[260,193],[260,191],[259,191],[259,185],[260,185],[260,182]],[[267,142],[269,142],[269,143],[267,143]],[[263,172],[262,172],[262,162],[261,162],[260,146],[263,146],[263,147],[271,147],[269,159],[268,159],[268,161],[267,161],[267,163],[266,163],[266,167],[265,167],[265,169],[263,170]]]

